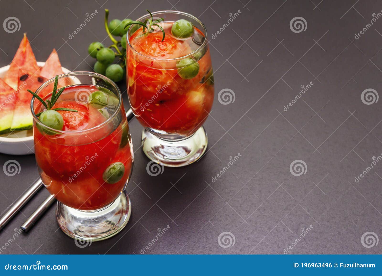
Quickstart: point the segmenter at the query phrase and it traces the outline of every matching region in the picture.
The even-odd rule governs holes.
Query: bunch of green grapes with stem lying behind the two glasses
[[[123,79],[126,72],[126,24],[131,19],[113,19],[108,22],[108,10],[105,10],[105,29],[113,44],[106,47],[102,42],[92,42],[87,52],[97,61],[94,64],[94,72],[107,76],[112,81],[118,82]],[[133,26],[135,27],[135,26]],[[113,36],[118,37],[117,39]],[[114,61],[118,58],[117,64]]]

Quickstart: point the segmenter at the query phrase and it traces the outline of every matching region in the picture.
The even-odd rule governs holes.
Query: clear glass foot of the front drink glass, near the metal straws
[[[121,231],[131,215],[131,202],[125,191],[109,206],[97,211],[80,211],[57,203],[56,217],[61,230],[77,240],[108,239]]]

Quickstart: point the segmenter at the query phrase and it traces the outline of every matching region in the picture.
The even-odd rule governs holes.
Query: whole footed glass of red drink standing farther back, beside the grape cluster
[[[153,27],[147,35],[129,28],[127,36],[127,87],[133,113],[144,127],[142,149],[165,166],[185,166],[207,148],[203,123],[214,99],[214,78],[207,31],[196,17],[180,11],[157,11],[153,19],[165,32]],[[137,21],[144,22],[151,15]],[[172,34],[175,21],[192,23],[193,34]]]

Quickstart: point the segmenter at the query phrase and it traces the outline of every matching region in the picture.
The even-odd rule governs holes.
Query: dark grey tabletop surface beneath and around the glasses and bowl
[[[110,9],[110,19],[136,19],[146,9],[191,13],[207,26],[215,71],[214,106],[204,124],[208,151],[197,163],[150,176],[149,159],[139,148],[142,127],[133,120],[135,164],[126,189],[133,213],[126,228],[79,248],[58,229],[52,207],[2,253],[139,254],[167,224],[147,253],[282,254],[310,224],[290,253],[382,253],[381,244],[361,243],[368,231],[382,237],[382,162],[354,181],[382,153],[382,100],[361,101],[365,89],[382,88],[382,19],[354,38],[382,10],[381,1],[104,1],[1,1],[0,21],[15,16],[21,29],[12,34],[1,29],[0,65],[10,63],[27,32],[37,60],[46,60],[54,47],[64,67],[91,70],[87,45],[108,43],[101,5]],[[97,16],[68,39],[94,10]],[[291,31],[296,16],[306,19],[306,31]],[[311,81],[308,92],[284,111]],[[127,106],[125,81],[119,85]],[[222,89],[232,89],[235,102],[222,105]],[[213,183],[238,153],[239,160]],[[33,155],[0,155],[0,165],[10,159],[20,163],[21,172],[0,173],[2,212],[38,177]],[[306,163],[306,174],[291,174],[295,160]],[[4,228],[0,246],[47,195],[41,190]],[[235,244],[223,248],[218,236],[226,231]]]

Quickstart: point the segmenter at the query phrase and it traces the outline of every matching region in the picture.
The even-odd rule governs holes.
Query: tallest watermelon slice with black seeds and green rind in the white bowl
[[[24,54],[24,63],[18,70],[18,90],[16,106],[13,112],[11,131],[32,128],[32,114],[30,108],[32,95],[27,89],[36,91],[41,85],[41,82],[39,82],[41,70],[37,65],[31,45],[29,44],[28,38],[25,34],[23,40],[25,40],[25,43],[24,48],[21,50],[21,54]],[[14,72],[12,72],[12,80],[14,80],[13,74]]]

